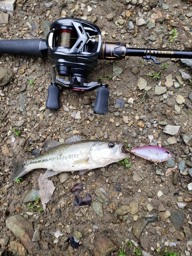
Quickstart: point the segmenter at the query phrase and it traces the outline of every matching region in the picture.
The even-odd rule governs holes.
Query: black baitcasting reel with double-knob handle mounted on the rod
[[[78,18],[63,18],[51,24],[47,36],[48,58],[55,63],[58,75],[69,76],[70,81],[57,78],[48,90],[46,106],[48,109],[58,109],[59,88],[74,91],[92,91],[101,87],[104,92],[103,104],[97,105],[97,113],[106,114],[109,93],[105,84],[87,83],[88,75],[97,67],[97,59],[101,49],[101,32],[99,28],[86,20]],[[102,110],[103,109],[103,110]],[[102,112],[102,113],[101,113]]]

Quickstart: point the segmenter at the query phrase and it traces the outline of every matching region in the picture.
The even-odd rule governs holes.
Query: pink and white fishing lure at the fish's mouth
[[[172,160],[172,153],[170,153],[170,151],[166,150],[163,147],[142,146],[133,148],[133,150],[130,150],[130,152],[138,157],[147,159],[148,161],[152,161],[155,163],[168,161],[170,165],[175,165],[174,161]]]

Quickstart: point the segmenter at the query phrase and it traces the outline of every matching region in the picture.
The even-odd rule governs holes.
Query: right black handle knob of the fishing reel
[[[97,98],[94,106],[94,112],[97,114],[108,114],[109,89],[101,86],[97,89]]]

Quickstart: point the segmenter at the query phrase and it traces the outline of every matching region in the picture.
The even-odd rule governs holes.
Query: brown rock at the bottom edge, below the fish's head
[[[109,240],[103,233],[99,233],[94,241],[94,255],[107,256],[113,251],[118,250],[118,247]]]

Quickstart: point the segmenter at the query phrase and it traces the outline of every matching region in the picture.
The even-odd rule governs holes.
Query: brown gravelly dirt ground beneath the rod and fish
[[[0,24],[0,38],[45,38],[43,27],[46,20],[52,23],[64,16],[86,16],[88,21],[100,28],[102,40],[126,42],[130,48],[189,50],[191,2],[167,0],[163,1],[163,6],[161,4],[161,1],[156,0],[65,0],[62,3],[57,0],[16,1],[8,24]],[[92,8],[91,12],[88,6]],[[152,20],[155,26],[150,28],[148,24],[152,15],[155,16]],[[146,23],[137,25],[138,18],[144,19]],[[133,27],[130,27],[130,22]],[[174,28],[178,35],[171,42],[169,32]],[[34,255],[118,255],[122,244],[129,241],[132,241],[133,246],[125,245],[125,255],[169,255],[164,252],[166,247],[171,252],[177,252],[177,255],[191,255],[186,244],[192,240],[192,196],[191,190],[187,188],[191,182],[188,172],[192,168],[192,103],[189,98],[192,90],[190,80],[181,79],[178,82],[177,79],[181,77],[181,70],[190,75],[191,69],[180,59],[157,60],[161,65],[155,65],[153,60],[146,62],[141,57],[126,57],[120,61],[98,60],[88,82],[106,76],[103,82],[109,84],[110,96],[109,113],[96,115],[93,113],[96,90],[86,93],[61,90],[61,108],[46,109],[48,87],[54,76],[50,61],[2,55],[1,68],[7,69],[7,76],[11,76],[11,80],[0,88],[0,255],[9,255],[7,253],[12,250],[12,241],[20,243],[20,239],[6,226],[6,220],[14,215],[23,216],[32,223],[34,230],[39,231],[39,249]],[[167,66],[161,71],[163,64]],[[114,76],[114,65],[122,68],[117,76]],[[155,79],[148,73],[159,73],[159,78]],[[165,84],[168,75],[172,75],[172,81],[175,82],[171,87]],[[109,76],[112,79],[108,79]],[[139,89],[137,84],[140,78],[147,82],[147,88]],[[155,88],[158,84],[160,86],[160,82],[166,92],[158,95]],[[144,96],[146,98],[143,101]],[[123,108],[117,104],[117,99],[123,101]],[[179,131],[174,135],[164,133],[166,124],[180,126]],[[31,189],[38,190],[39,174],[45,170],[33,170],[20,182],[10,182],[11,160],[32,158],[31,152],[41,150],[46,139],[64,142],[74,134],[80,134],[84,140],[126,140],[131,147],[150,143],[160,145],[172,152],[177,167],[173,173],[165,175],[167,169],[172,167],[167,162],[154,164],[130,155],[130,168],[111,164],[91,170],[83,176],[69,173],[63,183],[56,175],[51,178],[56,189],[47,203],[47,211],[38,212],[38,207],[36,211],[29,209],[24,197]],[[188,136],[187,140],[184,135]],[[181,174],[183,171],[186,175]],[[74,206],[74,195],[70,189],[75,183],[82,184],[82,196],[91,194],[92,204],[100,202],[96,189],[103,188],[106,191],[109,202],[101,200],[103,217],[96,214],[93,205]],[[134,212],[117,214],[121,206],[131,205],[136,207]],[[41,207],[40,201],[38,206]],[[179,228],[170,218],[174,211],[184,214]],[[145,217],[155,219],[145,227],[139,227],[138,224],[141,233],[136,236],[134,224]],[[57,239],[54,236],[56,230],[62,233]],[[76,231],[80,232],[81,238],[79,248],[74,250],[64,241],[69,236],[77,236]],[[107,252],[108,241],[105,245],[101,243],[104,252],[96,252],[94,248],[98,244],[95,241],[101,233],[117,246],[114,247],[115,251]],[[32,255],[29,252],[25,254],[25,250],[24,254],[17,253],[13,252],[14,255]]]

